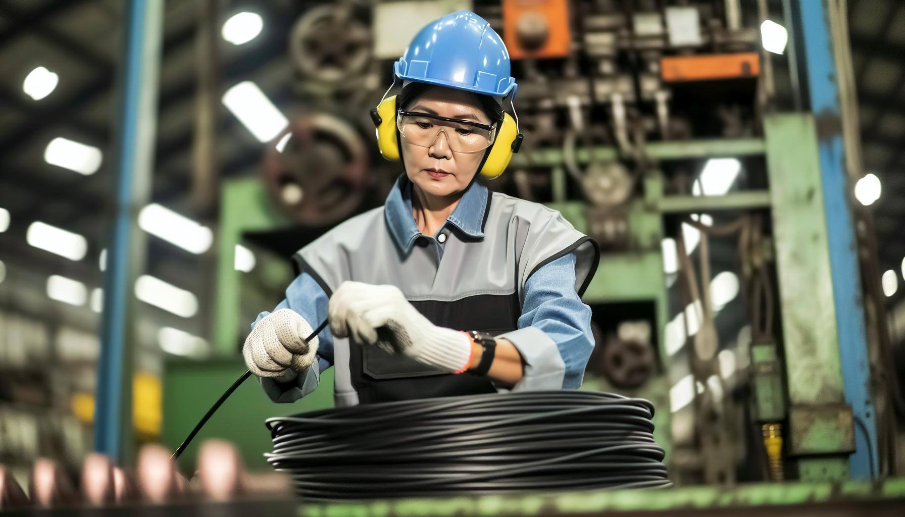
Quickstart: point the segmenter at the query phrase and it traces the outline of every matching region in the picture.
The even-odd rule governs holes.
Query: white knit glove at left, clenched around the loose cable
[[[318,337],[311,335],[308,321],[298,312],[281,309],[264,316],[245,340],[242,355],[245,365],[258,377],[295,377],[317,359]]]

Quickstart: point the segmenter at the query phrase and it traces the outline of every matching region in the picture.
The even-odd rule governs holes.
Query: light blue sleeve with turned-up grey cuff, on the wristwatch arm
[[[525,362],[525,376],[512,391],[576,389],[594,349],[591,308],[576,292],[576,256],[541,266],[525,282],[519,330],[510,340]]]

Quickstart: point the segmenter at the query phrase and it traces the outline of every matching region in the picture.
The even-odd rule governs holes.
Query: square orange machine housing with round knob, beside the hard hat
[[[537,47],[528,48],[519,38],[519,21],[525,16],[543,17],[547,24],[547,38]],[[572,36],[567,0],[503,0],[503,41],[511,59],[568,55]]]

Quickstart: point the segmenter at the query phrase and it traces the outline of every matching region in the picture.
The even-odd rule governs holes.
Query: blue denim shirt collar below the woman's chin
[[[478,181],[472,181],[462,194],[459,204],[452,210],[452,214],[446,218],[444,225],[452,225],[464,235],[480,239],[484,237],[484,222],[487,211],[490,208],[490,192]],[[412,215],[412,182],[405,174],[401,175],[386,196],[384,205],[386,225],[389,226],[390,235],[393,235],[395,244],[399,246],[403,254],[412,251],[414,240],[421,232],[414,224]]]

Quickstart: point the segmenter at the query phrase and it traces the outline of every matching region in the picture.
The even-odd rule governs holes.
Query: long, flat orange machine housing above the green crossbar
[[[663,81],[712,81],[757,77],[760,60],[757,53],[723,53],[670,56],[660,60]]]

